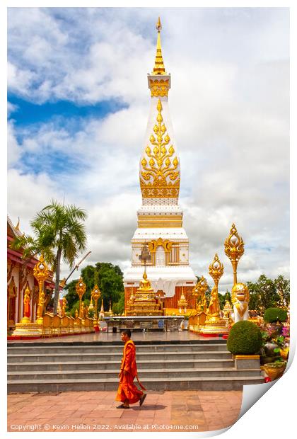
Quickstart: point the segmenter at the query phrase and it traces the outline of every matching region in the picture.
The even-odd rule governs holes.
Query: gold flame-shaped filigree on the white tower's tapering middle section
[[[170,142],[167,128],[162,123],[162,103],[158,99],[158,115],[153,127],[155,135],[149,141],[151,147],[146,147],[146,157],[141,160],[140,187],[143,198],[178,198],[180,191],[180,171],[177,169],[177,156],[173,159],[175,149]],[[156,136],[156,137],[155,137]]]

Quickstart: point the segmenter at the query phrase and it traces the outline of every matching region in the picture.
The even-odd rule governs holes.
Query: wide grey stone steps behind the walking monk
[[[8,393],[116,391],[119,343],[9,343]],[[264,382],[260,369],[235,369],[223,340],[135,344],[139,379],[148,391],[235,390]]]

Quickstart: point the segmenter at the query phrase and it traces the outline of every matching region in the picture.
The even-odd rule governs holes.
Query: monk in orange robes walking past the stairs
[[[124,352],[120,370],[120,384],[117,389],[116,401],[121,401],[123,404],[117,406],[117,409],[129,409],[129,404],[134,404],[139,401],[139,406],[142,406],[144,399],[146,399],[146,394],[137,389],[134,384],[134,378],[137,381],[137,367],[136,367],[136,348],[134,342],[131,340],[131,331],[129,329],[124,329],[122,331],[122,341],[124,341]],[[141,389],[146,390],[146,388],[139,382]]]

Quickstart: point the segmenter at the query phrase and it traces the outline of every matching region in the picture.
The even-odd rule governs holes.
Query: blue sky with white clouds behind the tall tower
[[[242,280],[288,276],[288,8],[9,8],[8,214],[65,196],[88,262],[129,265],[158,15],[194,271],[235,222]]]

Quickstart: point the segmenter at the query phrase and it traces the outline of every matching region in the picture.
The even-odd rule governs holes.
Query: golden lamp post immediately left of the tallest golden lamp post
[[[209,266],[209,275],[214,279],[214,287],[211,290],[211,300],[206,310],[206,321],[201,330],[202,334],[219,334],[228,333],[226,321],[221,318],[221,309],[219,304],[219,280],[223,275],[223,264],[217,254],[214,255],[214,261]]]

